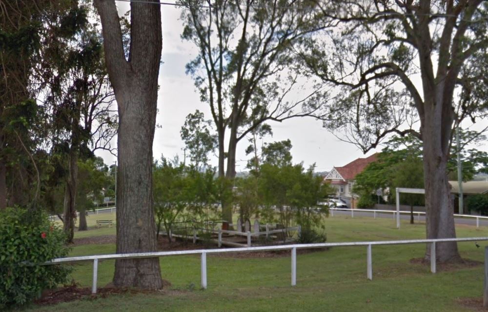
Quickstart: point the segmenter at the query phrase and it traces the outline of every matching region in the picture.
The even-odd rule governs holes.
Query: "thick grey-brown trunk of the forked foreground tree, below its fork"
[[[135,88],[134,88],[135,89]],[[129,89],[130,90],[130,89]],[[156,101],[146,101],[130,90],[119,103],[117,172],[117,253],[156,251],[156,224],[152,207],[152,143]],[[159,259],[117,260],[114,285],[159,289]]]

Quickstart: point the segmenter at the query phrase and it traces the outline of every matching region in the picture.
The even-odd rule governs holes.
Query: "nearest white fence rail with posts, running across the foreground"
[[[373,245],[399,245],[399,244],[430,244],[430,271],[436,272],[435,262],[435,244],[438,242],[466,242],[466,241],[487,241],[488,237],[467,237],[467,238],[442,238],[442,239],[416,239],[416,240],[392,240],[392,241],[370,241],[370,242],[344,242],[344,243],[321,243],[321,244],[294,244],[294,245],[278,245],[278,246],[263,246],[263,247],[247,247],[247,248],[229,248],[229,249],[201,249],[201,250],[183,250],[171,252],[155,252],[155,253],[138,253],[138,254],[102,254],[89,255],[80,257],[57,258],[51,261],[44,262],[42,265],[53,265],[65,262],[77,261],[93,261],[93,280],[92,293],[97,293],[97,276],[98,276],[98,262],[99,260],[111,259],[137,259],[137,258],[156,258],[170,255],[181,254],[200,254],[201,255],[201,283],[202,288],[207,288],[207,254],[223,254],[223,253],[237,253],[237,252],[258,252],[271,250],[291,250],[291,286],[295,286],[297,282],[297,249],[309,248],[326,248],[326,247],[341,247],[341,246],[366,246],[366,276],[369,280],[373,279],[373,261],[372,261],[372,246]]]

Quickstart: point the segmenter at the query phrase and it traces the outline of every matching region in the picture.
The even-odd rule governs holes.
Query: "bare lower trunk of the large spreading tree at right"
[[[442,90],[439,87],[438,90]],[[436,103],[425,105],[422,122],[424,181],[426,191],[426,231],[430,238],[455,238],[454,211],[447,182],[447,159],[452,124],[451,106],[442,105],[442,93],[438,92]],[[449,102],[450,103],[450,102]],[[449,122],[450,121],[450,122]],[[437,261],[458,262],[461,257],[456,242],[436,243]],[[427,246],[426,259],[430,259]]]

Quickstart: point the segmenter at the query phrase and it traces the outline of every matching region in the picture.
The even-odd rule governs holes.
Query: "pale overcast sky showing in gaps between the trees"
[[[119,15],[129,9],[129,3],[117,1]],[[180,35],[183,23],[180,18],[182,9],[162,5],[163,51],[160,68],[158,97],[158,127],[155,131],[153,156],[158,159],[162,155],[172,158],[176,155],[183,158],[183,141],[180,129],[185,117],[196,109],[211,119],[210,110],[202,103],[196,92],[193,79],[185,74],[185,64],[196,56],[193,43],[183,42]],[[356,146],[343,142],[322,127],[322,122],[311,117],[292,118],[282,123],[269,122],[273,129],[273,137],[266,137],[265,142],[280,141],[289,138],[293,145],[291,154],[293,162],[303,162],[305,167],[315,163],[316,171],[329,171],[334,166],[343,166],[358,158],[370,156],[381,151],[382,147],[364,155]],[[486,122],[475,125],[472,130],[481,128]],[[248,157],[244,150],[248,143],[241,141],[237,149],[236,171],[245,171]],[[488,149],[487,146],[482,149]],[[112,164],[116,160],[103,151],[98,152],[105,163]],[[211,164],[217,166],[217,156],[211,157]]]

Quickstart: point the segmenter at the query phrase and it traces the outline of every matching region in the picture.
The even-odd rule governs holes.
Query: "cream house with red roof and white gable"
[[[328,182],[335,187],[336,196],[345,200],[350,205],[353,203],[354,199],[352,188],[354,186],[356,176],[363,172],[369,163],[376,161],[376,158],[377,155],[373,154],[366,158],[358,158],[353,160],[345,166],[334,167],[324,177],[324,182]],[[354,206],[354,204],[351,206]]]

